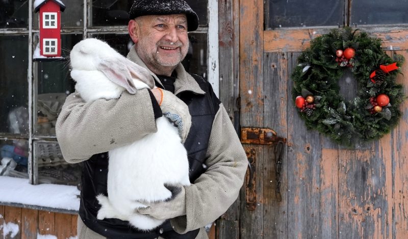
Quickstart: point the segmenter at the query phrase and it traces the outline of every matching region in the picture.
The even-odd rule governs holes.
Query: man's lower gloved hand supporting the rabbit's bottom
[[[170,191],[173,192],[172,198],[162,202],[142,202],[147,207],[138,208],[137,212],[159,220],[186,215],[186,190],[180,186]]]

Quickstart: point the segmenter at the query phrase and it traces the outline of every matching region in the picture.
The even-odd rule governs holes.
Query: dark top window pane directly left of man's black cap
[[[92,26],[127,25],[133,1],[95,0],[92,1]]]

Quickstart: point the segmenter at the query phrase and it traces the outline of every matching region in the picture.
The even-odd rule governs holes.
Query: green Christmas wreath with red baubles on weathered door
[[[336,29],[312,40],[297,61],[292,94],[308,129],[352,145],[354,139],[378,139],[397,125],[405,97],[396,76],[404,58],[387,55],[380,39],[349,27]],[[358,85],[348,101],[339,94],[347,69]]]

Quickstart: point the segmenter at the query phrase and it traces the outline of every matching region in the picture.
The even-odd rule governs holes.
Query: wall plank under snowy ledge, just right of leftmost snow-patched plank
[[[36,239],[38,230],[38,211],[29,208],[21,210],[21,239]]]

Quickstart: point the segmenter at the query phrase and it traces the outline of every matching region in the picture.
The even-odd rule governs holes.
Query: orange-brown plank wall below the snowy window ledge
[[[18,225],[18,233],[4,234],[0,228],[0,236],[6,239],[36,239],[40,235],[55,235],[66,239],[77,235],[77,215],[38,211],[29,208],[0,205],[0,225],[13,223]]]

